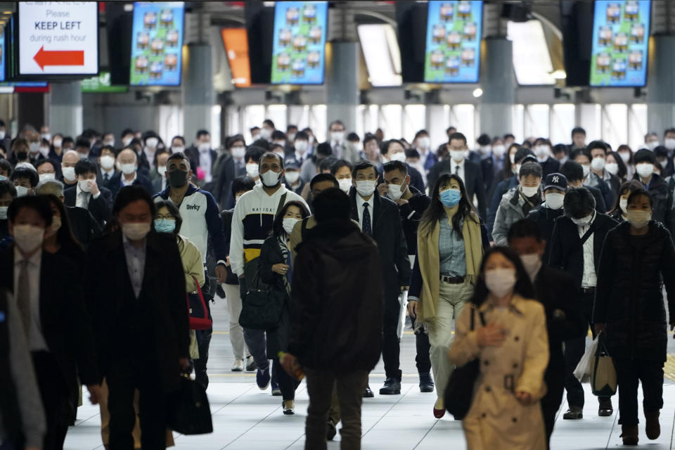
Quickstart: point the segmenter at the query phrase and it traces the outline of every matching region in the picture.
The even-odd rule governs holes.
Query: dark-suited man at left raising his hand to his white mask
[[[64,157],[65,158],[65,157]],[[110,220],[110,208],[113,206],[113,193],[99,187],[96,183],[96,165],[89,160],[80,160],[75,165],[77,186],[63,191],[66,206],[77,206],[89,210],[98,225],[103,228]]]

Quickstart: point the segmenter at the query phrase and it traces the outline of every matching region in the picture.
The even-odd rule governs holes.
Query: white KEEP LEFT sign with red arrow
[[[98,2],[20,1],[19,75],[96,75]]]

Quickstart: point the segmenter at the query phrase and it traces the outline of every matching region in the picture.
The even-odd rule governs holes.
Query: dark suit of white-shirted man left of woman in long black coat
[[[591,224],[591,229],[593,229],[593,265],[595,266],[596,274],[600,265],[600,253],[603,250],[605,237],[615,226],[617,226],[617,221],[606,214],[596,212],[596,218]],[[567,272],[574,278],[574,288],[577,289],[577,298],[580,299],[579,306],[581,313],[584,314],[586,323],[591,326],[591,331],[593,331],[592,317],[595,288],[586,290],[581,288],[581,281],[584,276],[584,248],[581,245],[579,229],[569,217],[561,216],[555,220],[550,249],[549,265]],[[584,328],[588,330],[587,327]],[[580,408],[584,407],[584,389],[572,372],[577,367],[577,364],[579,364],[581,356],[584,355],[585,348],[585,335],[581,338],[565,342],[565,389],[567,390],[567,403],[570,406],[578,406]],[[603,400],[603,397],[598,397],[598,399]]]

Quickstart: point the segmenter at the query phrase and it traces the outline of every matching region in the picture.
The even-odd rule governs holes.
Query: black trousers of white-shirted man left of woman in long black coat
[[[593,339],[596,338],[596,331],[593,330],[593,301],[596,293],[579,292],[581,307],[584,317],[591,327]],[[586,336],[582,338],[565,341],[565,390],[567,390],[567,404],[570,406],[584,407],[584,387],[581,386],[577,377],[574,376],[574,369],[581,361],[581,356],[586,352]],[[598,397],[598,401],[610,400],[611,397]]]

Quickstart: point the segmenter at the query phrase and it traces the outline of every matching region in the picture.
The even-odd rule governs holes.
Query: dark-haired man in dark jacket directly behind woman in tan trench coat
[[[549,359],[544,381],[548,391],[541,399],[541,410],[544,413],[547,441],[551,442],[555,414],[563,402],[565,389],[563,342],[585,337],[587,323],[581,314],[572,276],[541,262],[546,240],[541,236],[538,224],[532,219],[515,222],[508,230],[508,246],[520,255],[534,283],[536,300],[544,304],[546,309]]]

